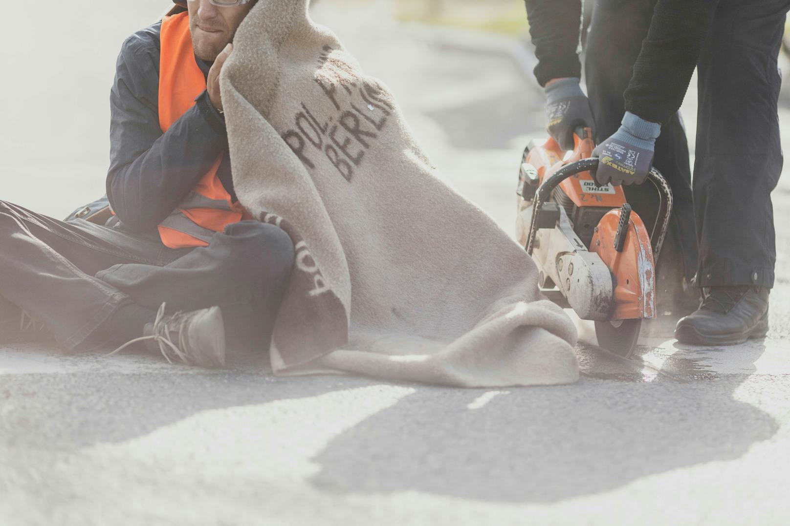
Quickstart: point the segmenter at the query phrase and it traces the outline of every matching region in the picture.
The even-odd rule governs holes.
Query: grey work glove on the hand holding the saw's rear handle
[[[565,151],[574,149],[574,130],[578,126],[592,128],[592,136],[595,137],[590,103],[581,91],[578,78],[554,81],[545,88],[545,92],[548,133],[560,148]]]

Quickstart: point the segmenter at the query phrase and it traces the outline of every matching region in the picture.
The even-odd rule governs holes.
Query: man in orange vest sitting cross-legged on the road
[[[123,43],[111,92],[106,224],[0,201],[0,342],[23,312],[69,351],[144,340],[221,366],[267,348],[294,261],[236,201],[220,70],[256,0],[179,0]],[[28,324],[29,326],[29,324]]]

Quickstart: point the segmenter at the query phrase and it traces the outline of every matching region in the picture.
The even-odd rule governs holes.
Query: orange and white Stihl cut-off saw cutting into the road
[[[541,291],[595,321],[601,348],[630,358],[641,321],[656,317],[656,264],[672,213],[672,190],[653,168],[660,209],[648,232],[622,186],[600,186],[590,171],[595,144],[577,128],[574,150],[530,141],[521,160],[516,235],[540,271]]]

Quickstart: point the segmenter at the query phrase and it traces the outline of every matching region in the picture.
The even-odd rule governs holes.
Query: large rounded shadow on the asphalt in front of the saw
[[[764,349],[747,350],[751,363]],[[554,502],[732,460],[776,433],[772,417],[733,399],[749,374],[701,375],[694,359],[664,368],[669,376],[647,382],[585,375],[577,385],[510,389],[481,408],[472,402],[482,390],[420,388],[332,441],[314,458],[322,471],[313,483]]]

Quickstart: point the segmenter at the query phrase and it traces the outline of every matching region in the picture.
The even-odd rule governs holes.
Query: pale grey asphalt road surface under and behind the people
[[[165,2],[50,3],[46,16],[4,7],[0,197],[64,216],[103,193],[115,55]],[[512,231],[517,160],[543,134],[529,55],[401,26],[386,1],[314,14],[389,85],[453,185]],[[693,136],[693,93],[683,111]],[[284,379],[0,348],[0,524],[786,524],[788,192],[785,178],[766,340],[648,338],[629,361],[580,344],[575,385]]]

